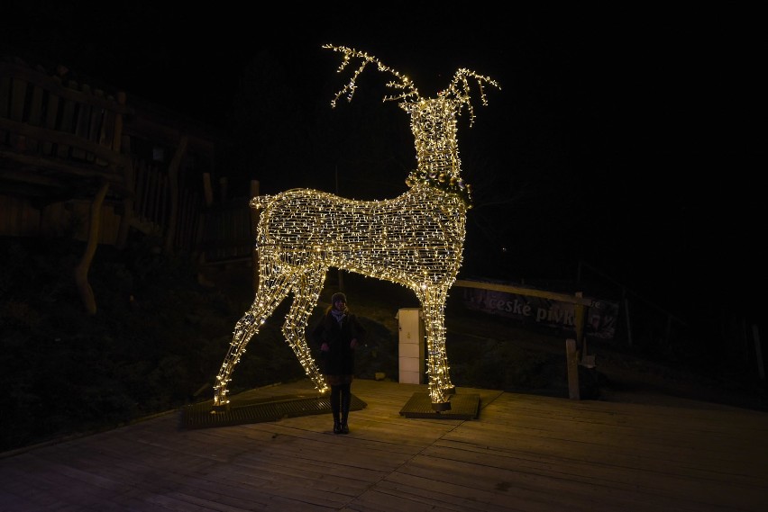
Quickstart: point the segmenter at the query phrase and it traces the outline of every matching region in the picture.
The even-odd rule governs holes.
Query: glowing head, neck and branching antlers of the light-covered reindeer
[[[343,54],[342,64],[338,72],[350,65],[352,59],[359,58],[360,66],[354,71],[350,81],[336,93],[331,102],[332,108],[343,94],[347,101],[352,101],[356,88],[357,77],[370,63],[379,71],[389,72],[397,80],[387,84],[396,93],[385,95],[384,101],[398,101],[400,108],[411,117],[411,131],[416,144],[416,159],[418,168],[406,180],[408,186],[423,183],[442,189],[445,192],[459,194],[469,207],[471,205],[471,187],[465,184],[461,177],[461,160],[459,159],[458,141],[456,139],[456,119],[462,114],[464,107],[470,112],[470,126],[474,121],[474,109],[471,104],[471,79],[477,81],[480,90],[480,101],[488,104],[483,83],[501,87],[488,76],[478,75],[474,71],[460,68],[453,76],[451,83],[435,98],[422,98],[416,85],[397,70],[385,66],[371,55],[357,49],[326,44],[325,49],[333,49]]]

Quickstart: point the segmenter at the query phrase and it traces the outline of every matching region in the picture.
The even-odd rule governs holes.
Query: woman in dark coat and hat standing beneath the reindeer
[[[347,420],[352,402],[354,349],[365,337],[365,329],[347,309],[347,297],[334,293],[331,305],[312,331],[320,345],[325,380],[331,386],[331,411],[334,414],[334,434],[349,434]]]

